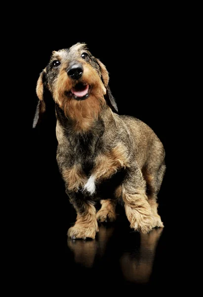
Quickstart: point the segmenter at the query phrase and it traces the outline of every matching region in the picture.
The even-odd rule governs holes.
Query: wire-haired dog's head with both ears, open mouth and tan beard
[[[108,86],[109,74],[85,44],[53,51],[37,83],[39,103],[33,126],[46,109],[44,88],[48,89],[65,115],[81,125],[89,126],[87,119],[98,118],[102,106],[108,104],[117,111],[117,104]]]

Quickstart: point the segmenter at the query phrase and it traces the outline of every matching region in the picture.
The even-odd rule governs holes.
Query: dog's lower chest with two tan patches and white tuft
[[[88,195],[94,195],[102,183],[112,179],[128,162],[126,152],[120,144],[105,153],[88,152],[85,158],[80,150],[75,153],[72,166],[62,171],[63,178],[70,191],[82,191]]]

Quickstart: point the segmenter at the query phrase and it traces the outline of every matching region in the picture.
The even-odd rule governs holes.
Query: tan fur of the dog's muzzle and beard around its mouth
[[[90,96],[84,100],[68,98],[65,92],[71,91],[76,82],[67,76],[66,69],[62,69],[54,86],[53,97],[59,106],[64,110],[67,117],[74,121],[75,131],[87,131],[92,127],[94,120],[102,106],[106,103],[104,94],[106,89],[101,82],[96,70],[89,65],[83,65],[84,72],[82,80],[89,85]]]

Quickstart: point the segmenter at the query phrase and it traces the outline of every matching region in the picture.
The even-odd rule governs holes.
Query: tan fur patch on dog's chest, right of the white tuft
[[[93,174],[96,180],[110,178],[119,169],[125,168],[127,165],[128,156],[126,149],[122,144],[118,144],[110,152],[97,157]]]

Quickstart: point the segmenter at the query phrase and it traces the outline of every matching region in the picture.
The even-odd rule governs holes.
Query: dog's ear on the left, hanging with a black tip
[[[37,126],[37,124],[41,120],[41,115],[44,113],[46,109],[46,104],[44,102],[43,93],[44,93],[44,86],[46,85],[46,73],[43,70],[40,74],[40,77],[37,82],[36,93],[39,98],[38,105],[35,112],[35,117],[33,120],[33,128]]]

